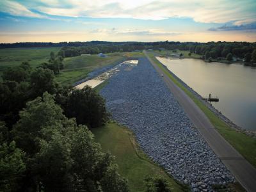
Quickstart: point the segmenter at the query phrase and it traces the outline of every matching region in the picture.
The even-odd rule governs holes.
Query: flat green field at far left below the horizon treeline
[[[57,53],[59,50],[60,47],[0,49],[0,76],[6,68],[18,66],[24,61],[36,67],[48,61],[51,52]]]

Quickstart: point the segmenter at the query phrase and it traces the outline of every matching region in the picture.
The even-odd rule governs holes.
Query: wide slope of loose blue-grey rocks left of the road
[[[148,60],[141,58],[132,70],[125,67],[100,94],[113,119],[132,129],[150,159],[192,191],[234,182]]]

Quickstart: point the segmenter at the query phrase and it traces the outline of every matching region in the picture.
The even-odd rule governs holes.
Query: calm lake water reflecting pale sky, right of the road
[[[256,68],[202,60],[157,58],[200,95],[220,98],[212,105],[237,125],[256,131]]]

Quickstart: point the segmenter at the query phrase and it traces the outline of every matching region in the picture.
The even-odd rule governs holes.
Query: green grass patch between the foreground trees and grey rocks
[[[187,186],[176,182],[164,172],[163,168],[148,159],[136,144],[129,129],[110,123],[92,129],[92,132],[95,135],[95,140],[102,146],[102,150],[109,151],[115,156],[118,173],[128,180],[131,191],[145,191],[144,179],[148,175],[161,175],[170,182],[172,191],[189,191]]]

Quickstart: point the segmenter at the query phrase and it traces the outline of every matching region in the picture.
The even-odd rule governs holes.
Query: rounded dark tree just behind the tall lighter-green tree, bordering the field
[[[36,68],[30,77],[31,93],[33,97],[42,96],[44,92],[56,93],[58,84],[54,80],[54,74],[49,69]]]

